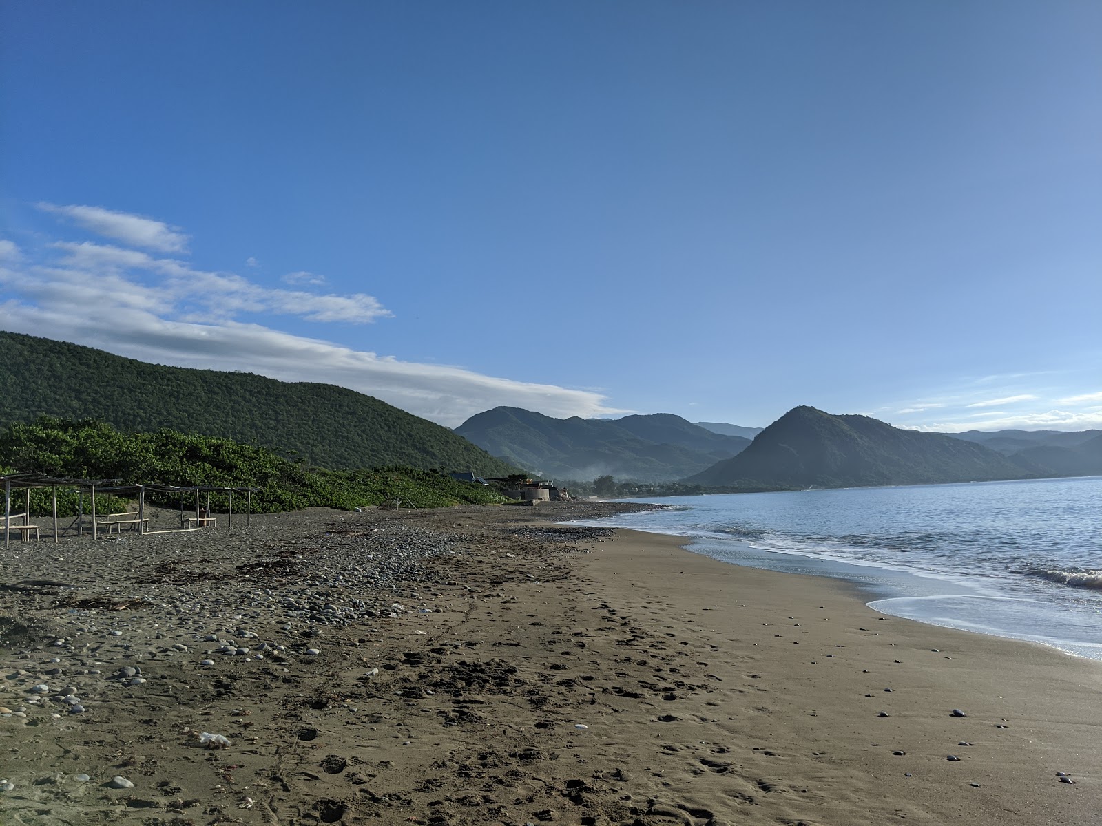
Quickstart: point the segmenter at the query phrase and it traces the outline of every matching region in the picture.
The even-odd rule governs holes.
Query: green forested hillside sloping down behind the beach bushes
[[[150,365],[17,333],[0,333],[0,425],[46,413],[255,441],[331,469],[516,472],[447,427],[333,384]]]

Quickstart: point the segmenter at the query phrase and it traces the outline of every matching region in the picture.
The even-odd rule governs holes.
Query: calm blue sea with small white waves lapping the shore
[[[640,499],[585,524],[854,582],[878,611],[1102,660],[1102,477]]]

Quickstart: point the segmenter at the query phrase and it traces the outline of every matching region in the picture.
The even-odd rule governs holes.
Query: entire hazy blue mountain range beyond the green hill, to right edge
[[[622,481],[780,489],[1102,474],[1102,431],[925,433],[809,406],[765,428],[693,424],[668,413],[552,419],[495,407],[456,433],[559,480],[611,475]]]

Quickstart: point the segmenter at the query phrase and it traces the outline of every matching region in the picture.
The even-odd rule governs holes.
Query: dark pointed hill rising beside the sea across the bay
[[[1019,479],[1006,457],[940,433],[793,407],[732,459],[685,479],[710,487],[806,488]]]

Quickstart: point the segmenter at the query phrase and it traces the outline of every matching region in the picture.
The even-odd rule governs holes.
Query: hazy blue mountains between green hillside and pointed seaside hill
[[[552,419],[520,407],[495,407],[472,416],[455,432],[495,456],[555,479],[607,474],[670,481],[730,458],[749,444],[669,413]]]

